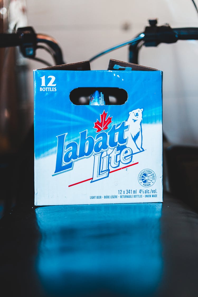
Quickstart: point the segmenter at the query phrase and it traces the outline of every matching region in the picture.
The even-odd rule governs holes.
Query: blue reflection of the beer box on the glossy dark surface
[[[37,269],[49,296],[153,296],[163,269],[161,210],[161,203],[36,208]]]

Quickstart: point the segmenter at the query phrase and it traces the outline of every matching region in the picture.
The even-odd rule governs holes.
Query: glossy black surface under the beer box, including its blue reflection
[[[198,214],[167,193],[18,207],[0,226],[2,296],[198,296]]]

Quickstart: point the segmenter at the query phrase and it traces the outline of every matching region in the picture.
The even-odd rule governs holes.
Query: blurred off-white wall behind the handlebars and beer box
[[[172,27],[198,27],[191,0],[27,0],[28,25],[37,33],[54,37],[67,63],[84,61],[96,53],[135,37],[149,18]],[[198,0],[196,0],[198,5]],[[124,30],[125,24],[129,25]],[[52,61],[48,53],[38,56]],[[128,60],[128,47],[115,50],[91,63],[107,69],[110,58]],[[139,64],[161,69],[163,124],[168,139],[178,144],[198,144],[198,41],[179,41],[157,48],[142,48]],[[30,63],[42,68],[39,63]],[[33,94],[33,75],[29,75]]]

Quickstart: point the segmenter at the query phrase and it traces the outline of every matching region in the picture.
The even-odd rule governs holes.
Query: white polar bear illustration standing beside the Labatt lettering
[[[144,151],[142,148],[142,111],[143,108],[132,110],[129,112],[129,118],[126,121],[129,126],[127,146],[132,148],[133,153]]]

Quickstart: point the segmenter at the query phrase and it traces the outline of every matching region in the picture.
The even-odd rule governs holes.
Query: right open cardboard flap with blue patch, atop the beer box
[[[132,71],[132,70],[139,70],[139,71],[156,71],[158,69],[145,67],[133,63],[128,62],[122,62],[118,60],[110,59],[109,61],[109,67],[108,70],[126,70],[126,71]]]

